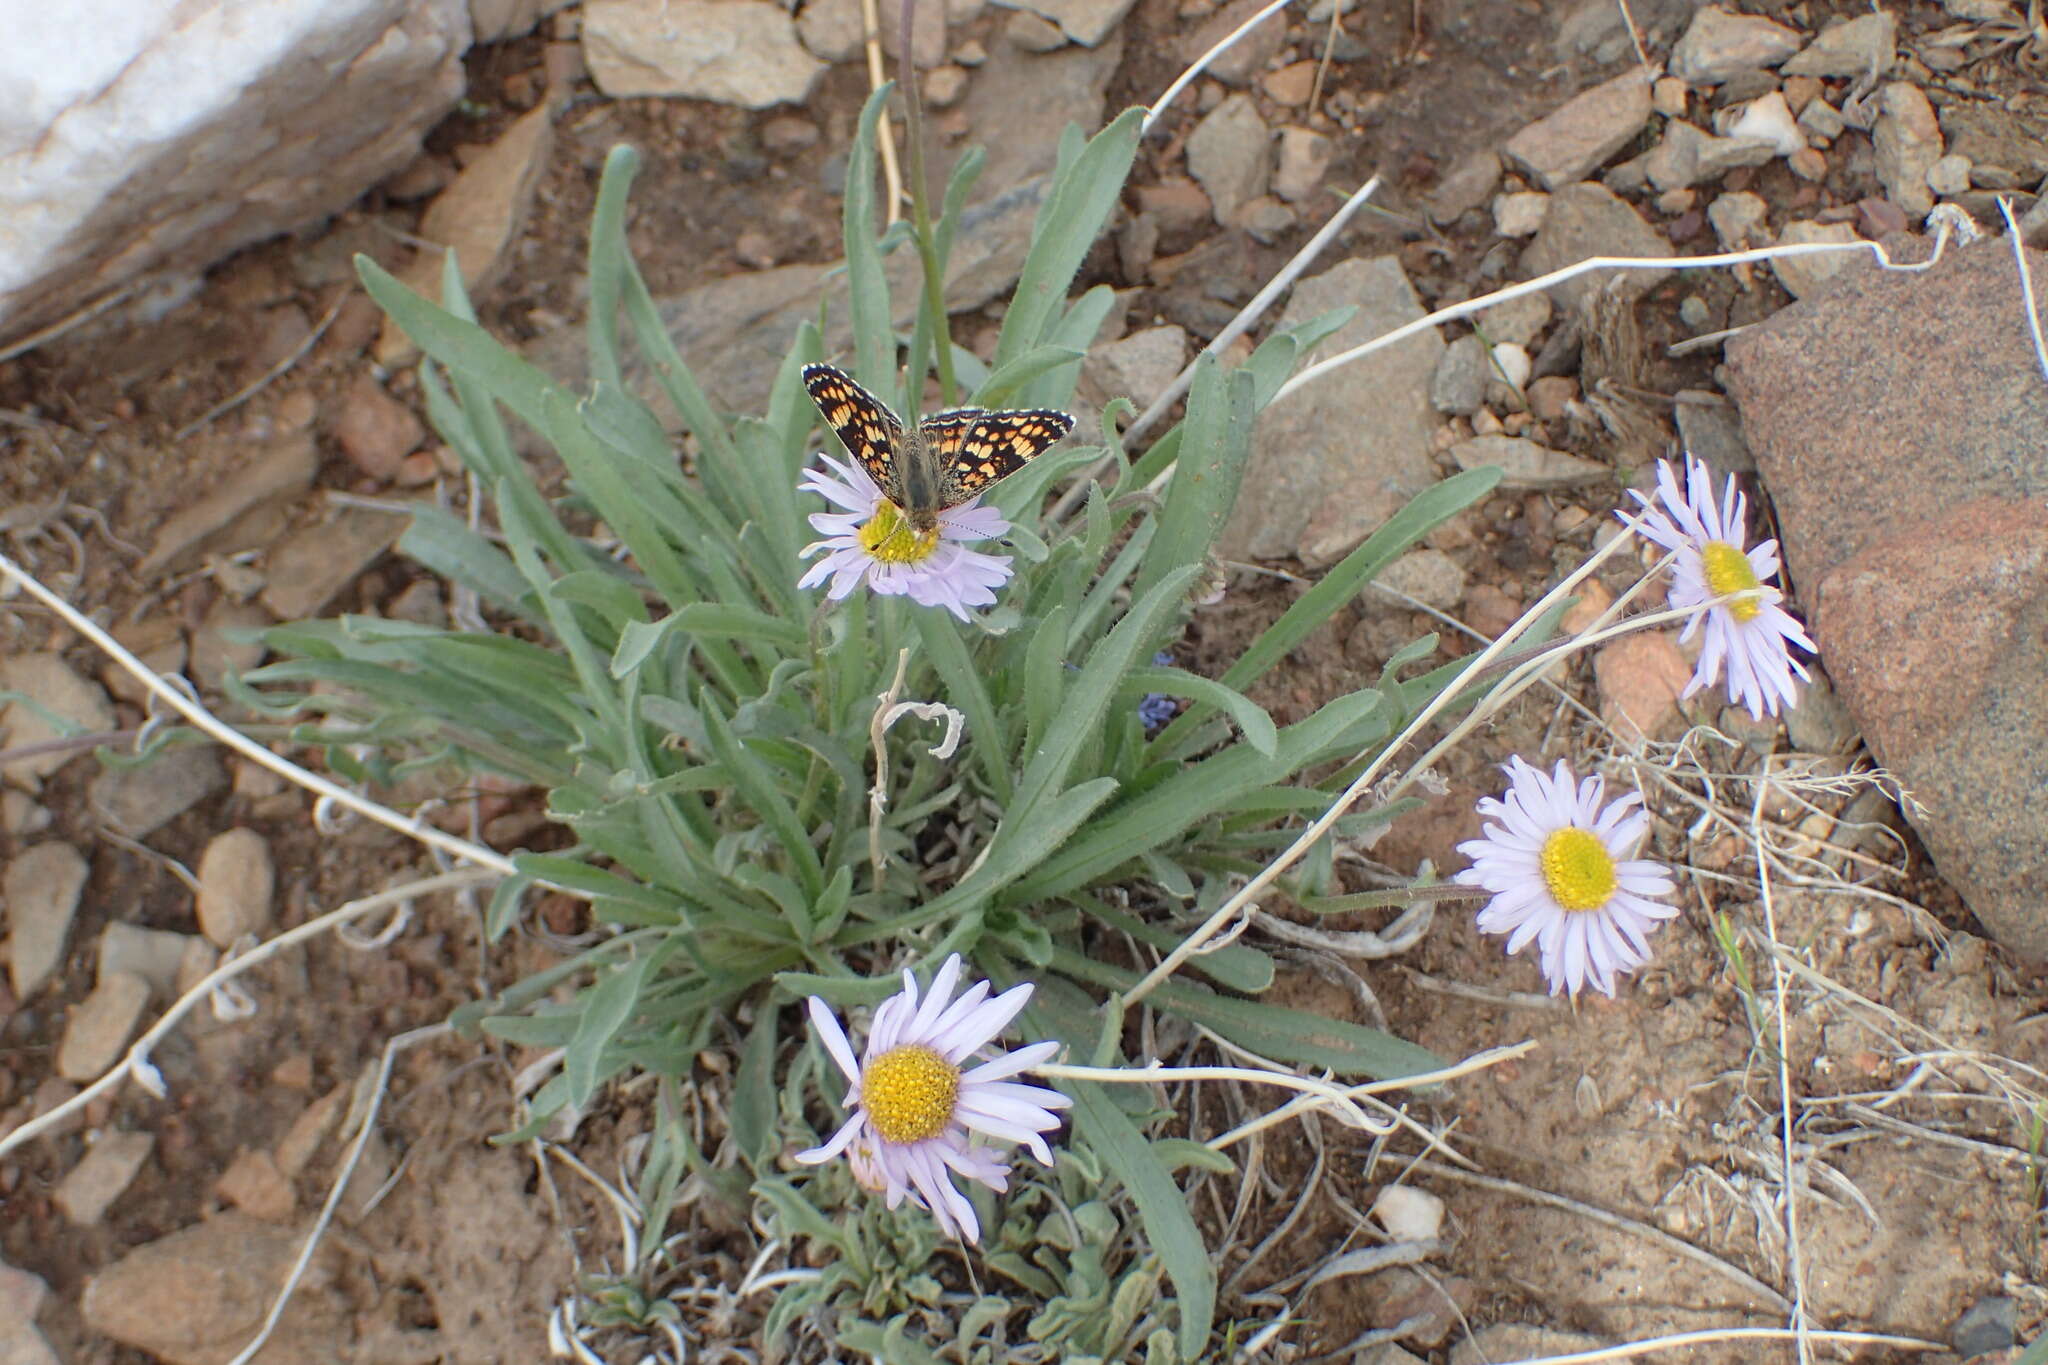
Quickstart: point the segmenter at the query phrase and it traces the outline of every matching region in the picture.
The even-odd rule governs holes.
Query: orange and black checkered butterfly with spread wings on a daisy
[[[846,452],[920,534],[938,528],[940,512],[1008,479],[1073,430],[1071,415],[1049,407],[954,407],[905,432],[889,405],[846,370],[807,364],[803,387]]]

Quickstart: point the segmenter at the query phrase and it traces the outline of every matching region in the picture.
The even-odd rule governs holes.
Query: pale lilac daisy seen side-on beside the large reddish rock
[[[1792,657],[1792,645],[1819,653],[1798,620],[1780,602],[1784,593],[1769,587],[1778,577],[1778,542],[1763,540],[1743,548],[1747,536],[1747,503],[1729,475],[1720,503],[1714,503],[1714,479],[1706,465],[1686,456],[1686,491],[1679,493],[1677,473],[1669,460],[1657,463],[1657,497],[1630,491],[1642,503],[1642,534],[1667,551],[1671,561],[1671,606],[1694,608],[1726,593],[1755,596],[1708,606],[1686,622],[1679,639],[1692,639],[1706,626],[1700,643],[1700,663],[1683,696],[1729,675],[1729,700],[1747,706],[1757,720],[1778,714],[1798,700],[1792,675],[1812,675]],[[1659,508],[1657,503],[1663,503]]]

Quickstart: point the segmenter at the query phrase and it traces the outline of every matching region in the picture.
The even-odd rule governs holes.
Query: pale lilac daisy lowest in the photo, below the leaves
[[[991,1001],[989,982],[979,980],[954,1001],[958,978],[961,954],[952,954],[920,1001],[918,978],[905,970],[903,990],[874,1009],[860,1062],[831,1007],[811,997],[811,1027],[852,1083],[842,1101],[852,1113],[823,1146],[797,1152],[797,1160],[817,1166],[846,1152],[854,1179],[883,1193],[889,1207],[907,1197],[932,1212],[940,1232],[973,1242],[981,1222],[952,1175],[997,1193],[1010,1187],[1010,1164],[973,1142],[973,1134],[1022,1144],[1051,1166],[1053,1150],[1038,1134],[1059,1128],[1053,1111],[1073,1101],[1040,1085],[1010,1081],[1053,1056],[1057,1042],[995,1052],[981,1066],[961,1070],[1024,1009],[1032,986],[1012,986]]]

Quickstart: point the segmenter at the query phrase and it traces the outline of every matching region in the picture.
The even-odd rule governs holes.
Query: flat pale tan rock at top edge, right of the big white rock
[[[825,70],[764,0],[588,0],[584,59],[604,94],[743,108],[797,104]]]

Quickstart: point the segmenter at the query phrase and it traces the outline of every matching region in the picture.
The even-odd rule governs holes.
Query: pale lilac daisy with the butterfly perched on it
[[[829,454],[819,458],[831,473],[805,469],[797,487],[842,512],[811,514],[811,528],[825,538],[803,546],[803,553],[827,553],[805,571],[799,587],[831,579],[825,596],[838,602],[866,579],[870,591],[903,596],[918,606],[942,606],[961,620],[967,620],[971,606],[995,604],[995,589],[1010,581],[1010,557],[969,551],[961,542],[1008,534],[1010,522],[1001,512],[971,497],[940,512],[936,530],[918,532],[903,510],[883,497],[868,471]]]

